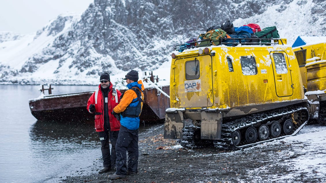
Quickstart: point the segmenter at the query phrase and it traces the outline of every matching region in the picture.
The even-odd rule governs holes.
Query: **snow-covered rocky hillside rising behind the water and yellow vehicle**
[[[173,46],[212,25],[275,25],[292,45],[300,35],[325,35],[325,9],[320,0],[95,0],[34,35],[0,33],[0,84],[93,85],[102,72],[118,80],[131,69],[169,81]]]

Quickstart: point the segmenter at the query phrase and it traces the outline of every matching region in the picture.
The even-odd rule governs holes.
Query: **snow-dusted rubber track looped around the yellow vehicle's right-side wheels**
[[[273,119],[276,117],[281,117],[283,115],[291,114],[291,113],[294,113],[297,111],[306,111],[307,117],[306,117],[306,121],[301,122],[301,124],[299,124],[299,126],[297,128],[295,128],[296,125],[294,126],[295,130],[291,135],[285,135],[285,136],[281,136],[281,137],[271,138],[271,139],[258,141],[258,142],[251,143],[251,144],[245,144],[245,145],[241,145],[241,146],[235,146],[232,143],[231,135],[236,130],[243,129],[248,126],[262,123],[267,120],[270,120],[270,119]],[[281,139],[284,137],[294,136],[301,130],[301,128],[305,124],[307,124],[308,120],[309,120],[308,110],[306,107],[302,107],[302,106],[287,106],[287,107],[279,108],[279,109],[272,110],[272,111],[252,114],[252,115],[222,124],[221,140],[215,140],[214,146],[216,148],[223,148],[223,149],[236,149],[236,148],[252,146],[252,145],[263,143],[263,142],[273,141],[275,139]],[[298,123],[300,123],[300,122],[298,122]],[[242,138],[244,138],[244,137],[242,137]]]

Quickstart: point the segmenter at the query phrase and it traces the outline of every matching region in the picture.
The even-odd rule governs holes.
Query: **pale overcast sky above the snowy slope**
[[[35,33],[62,13],[82,13],[94,0],[0,0],[0,31]]]

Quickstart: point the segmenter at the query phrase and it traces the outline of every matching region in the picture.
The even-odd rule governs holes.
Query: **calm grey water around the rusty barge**
[[[59,182],[81,168],[91,171],[95,159],[101,157],[93,123],[34,118],[28,101],[39,96],[39,88],[0,85],[0,182]],[[52,94],[56,95],[94,91],[97,86],[53,88]]]

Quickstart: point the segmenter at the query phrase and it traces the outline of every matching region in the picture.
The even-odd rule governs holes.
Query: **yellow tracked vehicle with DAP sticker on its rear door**
[[[285,39],[260,41],[176,46],[182,52],[172,54],[165,138],[234,149],[299,132],[309,107],[296,55]]]

